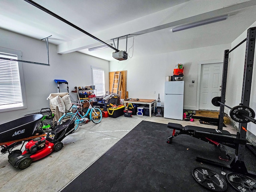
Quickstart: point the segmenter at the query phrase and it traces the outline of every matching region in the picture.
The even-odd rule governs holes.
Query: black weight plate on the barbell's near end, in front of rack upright
[[[234,120],[235,122],[238,123],[248,123],[251,122],[248,120],[245,116],[254,118],[255,117],[255,112],[252,110],[250,107],[239,105],[233,107],[230,112],[230,118]]]

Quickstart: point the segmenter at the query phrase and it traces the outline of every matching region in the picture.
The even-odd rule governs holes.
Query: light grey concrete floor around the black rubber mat
[[[163,123],[166,126],[168,122],[173,122],[183,126],[217,128],[200,124],[198,120],[187,122],[156,116],[132,116],[132,118],[121,116],[102,118],[99,124],[88,122],[62,141],[64,144],[62,150],[52,152],[49,156],[33,162],[24,170],[11,166],[8,162],[8,154],[0,154],[0,192],[61,191],[142,120]],[[224,130],[236,134],[232,126],[226,126]],[[166,142],[166,138],[163,138],[163,142]],[[19,149],[20,146],[16,148]]]

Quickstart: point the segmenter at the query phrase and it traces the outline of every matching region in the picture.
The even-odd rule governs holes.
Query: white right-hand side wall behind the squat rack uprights
[[[254,22],[250,27],[255,27]],[[256,32],[255,32],[256,33]],[[242,42],[247,36],[247,30],[245,30],[236,40],[232,42],[232,48]],[[245,61],[246,42],[236,48],[230,54],[230,62],[228,64],[228,79],[226,90],[226,104],[228,106],[237,106],[241,103],[242,96],[242,83],[244,76],[244,61]],[[256,54],[254,54],[254,67],[256,66]],[[250,108],[256,111],[256,69],[254,68],[252,74],[252,88],[250,95]],[[238,123],[237,123],[238,126]],[[256,135],[256,125],[248,123],[248,130],[252,134]]]

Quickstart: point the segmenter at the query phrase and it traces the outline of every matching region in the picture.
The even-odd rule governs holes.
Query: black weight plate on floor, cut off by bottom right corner
[[[256,181],[248,176],[238,173],[228,173],[226,175],[228,183],[239,192],[255,192]]]

